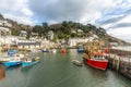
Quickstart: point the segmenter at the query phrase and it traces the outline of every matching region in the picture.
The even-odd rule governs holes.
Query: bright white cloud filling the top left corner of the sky
[[[5,18],[23,24],[34,24],[32,21],[33,12],[27,7],[27,0],[0,0],[0,13]]]

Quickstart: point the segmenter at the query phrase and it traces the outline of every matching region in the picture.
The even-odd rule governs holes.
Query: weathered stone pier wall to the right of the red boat
[[[131,79],[131,52],[122,50],[110,50],[108,67]]]

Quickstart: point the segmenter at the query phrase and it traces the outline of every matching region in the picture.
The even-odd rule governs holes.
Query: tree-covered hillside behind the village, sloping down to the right
[[[37,33],[39,37],[48,37],[48,33],[52,30],[55,34],[55,37],[52,39],[53,41],[57,39],[68,40],[69,38],[87,38],[96,35],[96,39],[108,40],[109,42],[118,42],[119,45],[130,45],[121,39],[108,35],[103,27],[96,27],[92,24],[83,25],[81,23],[72,21],[63,21],[62,23],[58,24],[48,25],[48,23],[43,23],[41,25],[31,26],[19,24],[15,21],[4,18],[1,14],[0,21],[7,21],[7,23],[10,23],[12,26],[5,26],[4,24],[0,26],[10,28],[12,35],[15,36],[20,35],[20,30],[26,30],[28,38],[31,37],[32,33]]]

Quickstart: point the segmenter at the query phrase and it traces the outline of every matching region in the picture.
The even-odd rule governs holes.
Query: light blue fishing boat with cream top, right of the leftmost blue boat
[[[39,62],[39,58],[31,58],[31,57],[25,57],[22,60],[22,67],[26,67],[26,66],[32,66],[34,64],[37,64]]]

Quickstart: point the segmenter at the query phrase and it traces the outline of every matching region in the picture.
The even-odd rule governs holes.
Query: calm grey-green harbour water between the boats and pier
[[[99,71],[87,65],[76,66],[72,60],[83,61],[75,49],[68,53],[29,53],[40,57],[34,66],[7,69],[0,87],[131,87],[131,80],[111,70]]]

